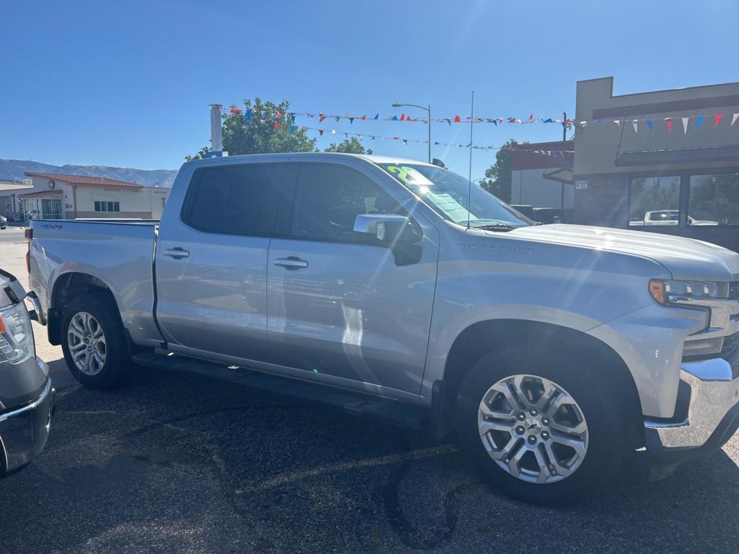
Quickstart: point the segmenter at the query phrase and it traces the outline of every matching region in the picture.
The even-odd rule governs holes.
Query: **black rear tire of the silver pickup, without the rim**
[[[67,329],[72,317],[79,312],[87,312],[100,324],[106,339],[106,357],[102,369],[96,375],[87,375],[78,369],[69,350]],[[64,360],[72,375],[90,389],[115,389],[123,386],[132,372],[126,334],[120,321],[118,306],[105,293],[81,295],[70,301],[61,317],[61,347]]]

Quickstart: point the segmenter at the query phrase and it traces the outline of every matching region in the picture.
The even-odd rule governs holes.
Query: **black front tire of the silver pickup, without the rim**
[[[627,404],[602,365],[588,366],[576,352],[522,350],[491,352],[474,363],[457,394],[460,442],[483,479],[508,496],[539,505],[582,502],[619,473],[627,451]],[[579,468],[564,479],[545,484],[518,479],[491,459],[480,440],[477,414],[483,395],[498,380],[517,374],[554,381],[568,391],[585,416],[588,448]]]

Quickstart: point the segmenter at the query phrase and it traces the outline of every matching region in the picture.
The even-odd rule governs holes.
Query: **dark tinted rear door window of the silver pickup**
[[[281,174],[276,164],[200,169],[185,200],[183,221],[205,233],[269,235]]]

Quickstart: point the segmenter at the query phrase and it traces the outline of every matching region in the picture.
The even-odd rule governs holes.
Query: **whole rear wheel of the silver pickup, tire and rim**
[[[80,383],[91,389],[125,383],[132,362],[118,307],[107,295],[87,294],[69,302],[61,329],[64,360]]]

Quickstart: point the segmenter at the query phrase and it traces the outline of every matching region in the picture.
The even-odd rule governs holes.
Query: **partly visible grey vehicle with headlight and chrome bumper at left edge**
[[[41,453],[54,408],[49,366],[35,355],[24,298],[18,280],[0,270],[0,477]]]

